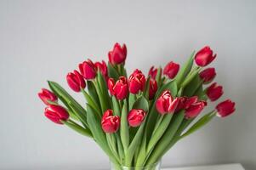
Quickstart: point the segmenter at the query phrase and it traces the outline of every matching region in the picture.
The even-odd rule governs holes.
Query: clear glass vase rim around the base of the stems
[[[161,161],[158,161],[152,165],[147,165],[145,167],[126,167],[111,162],[111,170],[160,170],[160,168]]]

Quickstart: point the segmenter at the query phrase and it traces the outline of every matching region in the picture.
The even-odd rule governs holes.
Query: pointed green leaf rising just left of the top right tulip
[[[192,52],[191,57],[186,61],[185,65],[183,65],[181,67],[181,69],[179,70],[178,75],[175,77],[175,80],[177,81],[178,86],[180,85],[180,83],[185,79],[185,77],[191,71],[191,68],[193,66],[195,53],[196,53],[195,51]]]

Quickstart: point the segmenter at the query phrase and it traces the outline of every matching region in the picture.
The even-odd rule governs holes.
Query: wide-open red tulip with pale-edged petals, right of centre
[[[156,110],[161,114],[173,113],[179,104],[179,99],[173,99],[171,92],[165,90],[162,95],[156,99]]]

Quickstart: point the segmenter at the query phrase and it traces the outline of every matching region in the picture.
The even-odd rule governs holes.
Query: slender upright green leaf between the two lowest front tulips
[[[128,150],[129,145],[129,129],[128,129],[128,105],[127,100],[124,100],[124,104],[122,106],[122,115],[121,115],[121,125],[120,125],[120,136],[124,149],[124,153]]]

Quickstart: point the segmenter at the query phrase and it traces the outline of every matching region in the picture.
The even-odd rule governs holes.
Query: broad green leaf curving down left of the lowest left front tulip
[[[109,146],[107,145],[107,141],[105,138],[105,133],[103,132],[101,128],[100,121],[97,120],[97,117],[95,116],[94,109],[87,105],[87,111],[88,111],[88,126],[91,129],[91,132],[93,133],[94,139],[97,142],[97,144],[100,145],[101,149],[105,151],[105,153],[110,157],[111,161],[118,164],[119,161],[115,158],[115,156],[111,153],[111,150]]]

